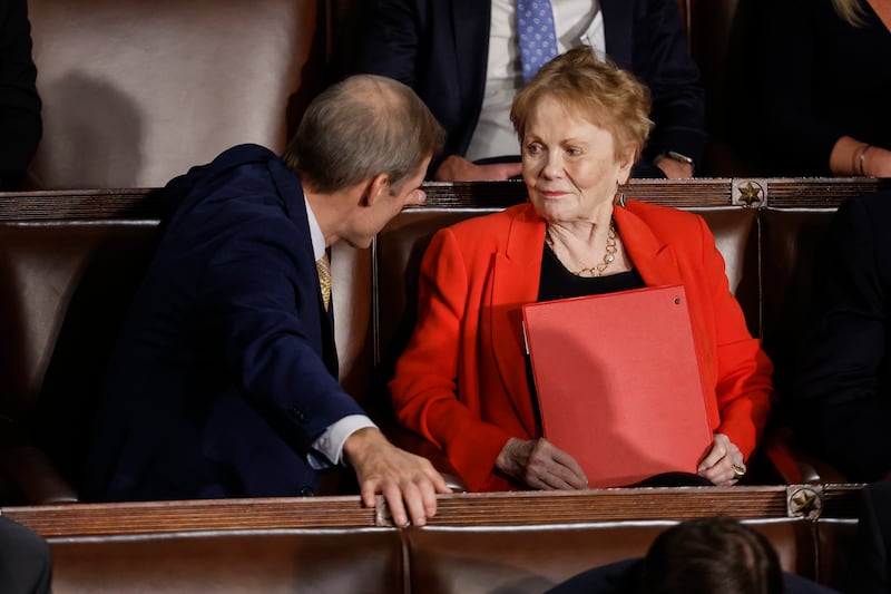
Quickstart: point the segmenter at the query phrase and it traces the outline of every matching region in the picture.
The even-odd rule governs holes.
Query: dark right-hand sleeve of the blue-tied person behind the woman
[[[705,152],[705,91],[687,51],[675,0],[645,0],[635,11],[631,70],[653,94],[653,130],[647,157],[676,150],[702,164]],[[607,27],[609,25],[607,23]]]

